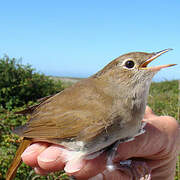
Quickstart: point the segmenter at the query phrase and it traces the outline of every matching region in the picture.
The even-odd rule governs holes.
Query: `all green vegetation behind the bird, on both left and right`
[[[20,141],[11,130],[27,120],[26,116],[14,112],[36,103],[38,98],[61,91],[64,86],[67,86],[67,82],[63,85],[57,79],[49,79],[35,72],[31,66],[22,65],[16,59],[7,56],[0,59],[0,179],[5,179],[5,173]],[[152,83],[148,104],[156,114],[170,115],[179,119],[178,93],[178,81]],[[177,163],[176,180],[180,179],[179,164],[180,158]],[[22,164],[15,179],[43,180],[57,177],[62,180],[68,179],[64,172],[40,177],[30,167]]]

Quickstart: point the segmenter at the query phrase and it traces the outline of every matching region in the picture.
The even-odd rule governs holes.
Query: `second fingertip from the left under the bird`
[[[58,145],[51,145],[38,156],[38,165],[46,171],[62,170],[70,156],[70,151]]]

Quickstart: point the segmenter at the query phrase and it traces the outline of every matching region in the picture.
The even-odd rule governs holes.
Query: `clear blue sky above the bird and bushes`
[[[123,53],[174,50],[152,65],[180,64],[179,0],[17,0],[0,3],[0,56],[47,75],[87,77]],[[180,79],[180,65],[156,80]]]

